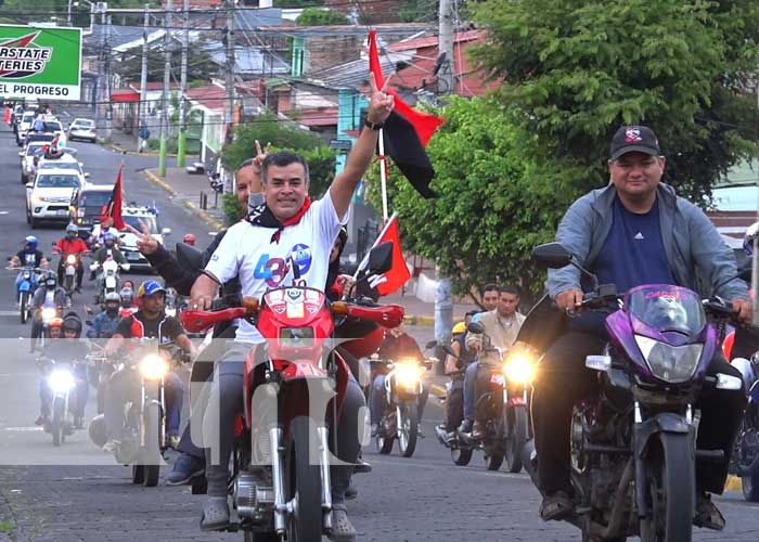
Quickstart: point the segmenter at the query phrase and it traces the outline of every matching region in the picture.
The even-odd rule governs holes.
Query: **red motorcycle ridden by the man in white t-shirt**
[[[389,269],[387,248],[372,250],[370,276]],[[345,359],[331,341],[335,320],[355,318],[396,327],[403,308],[368,299],[330,304],[322,292],[296,283],[269,291],[261,302],[244,298],[243,307],[181,314],[191,333],[240,318],[256,325],[267,343],[253,347],[245,359],[245,413],[236,424],[231,483],[240,522],[230,530],[243,530],[248,542],[273,542],[282,535],[287,541],[321,541],[332,529],[326,421],[339,418],[349,377]],[[254,390],[261,384],[276,384],[265,388],[275,397],[266,401],[263,412],[256,401],[254,420]],[[314,391],[335,396],[323,411],[313,409]],[[267,426],[261,420],[275,423]]]

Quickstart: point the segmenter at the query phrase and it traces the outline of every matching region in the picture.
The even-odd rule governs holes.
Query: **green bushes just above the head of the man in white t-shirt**
[[[283,122],[274,115],[266,113],[235,128],[234,142],[226,144],[221,151],[224,167],[235,170],[244,160],[255,156],[256,140],[261,146],[271,143],[273,147],[290,149],[300,154],[322,145],[316,133]]]

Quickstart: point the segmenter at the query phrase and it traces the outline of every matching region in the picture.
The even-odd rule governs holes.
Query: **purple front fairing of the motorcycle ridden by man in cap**
[[[634,367],[635,373],[638,373],[641,377],[647,380],[655,382],[664,380],[654,376],[654,374],[652,373],[651,369],[648,367],[648,363],[646,362],[645,358],[643,357],[643,353],[641,352],[641,349],[638,347],[638,343],[635,343],[635,335],[643,335],[645,337],[653,338],[666,345],[676,347],[703,343],[704,349],[702,350],[702,354],[698,360],[696,371],[693,374],[693,377],[690,380],[683,383],[666,383],[668,386],[690,386],[694,380],[704,379],[704,376],[706,375],[706,371],[709,366],[709,363],[711,362],[711,359],[715,356],[715,350],[717,347],[717,331],[711,324],[705,323],[704,326],[697,333],[685,334],[681,332],[661,332],[656,327],[645,324],[638,317],[635,317],[627,310],[627,307],[629,307],[628,301],[631,293],[638,289],[649,288],[654,286],[660,288],[662,292],[668,291],[677,294],[678,291],[685,291],[689,294],[694,295],[693,292],[687,288],[672,285],[648,284],[645,286],[638,286],[635,288],[632,288],[625,296],[625,309],[620,309],[616,312],[613,312],[606,318],[606,332],[608,333],[609,340],[612,341],[614,347],[619,352],[623,352],[627,356],[627,358],[632,362],[632,366]]]

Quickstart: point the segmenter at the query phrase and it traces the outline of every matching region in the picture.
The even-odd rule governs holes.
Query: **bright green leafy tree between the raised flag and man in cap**
[[[423,199],[390,162],[388,198],[403,249],[438,263],[459,295],[490,282],[537,285],[530,248],[553,237],[570,194],[526,160],[536,138],[492,103],[453,98],[445,116],[427,146],[437,199]],[[380,208],[377,165],[369,177]]]

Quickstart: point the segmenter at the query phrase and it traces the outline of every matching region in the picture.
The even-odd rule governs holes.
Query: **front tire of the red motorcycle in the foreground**
[[[312,465],[309,443],[312,437],[310,420],[297,416],[290,423],[290,438],[285,451],[286,501],[296,498],[298,507],[287,518],[287,542],[321,542],[322,540],[322,480],[319,465]]]

